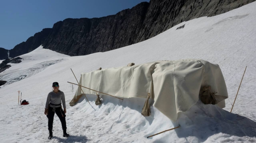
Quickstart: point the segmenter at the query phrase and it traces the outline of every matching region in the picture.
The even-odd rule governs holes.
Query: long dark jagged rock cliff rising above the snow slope
[[[190,19],[215,16],[255,0],[150,0],[102,18],[65,19],[10,50],[10,57],[40,45],[70,56],[88,55],[135,44]]]

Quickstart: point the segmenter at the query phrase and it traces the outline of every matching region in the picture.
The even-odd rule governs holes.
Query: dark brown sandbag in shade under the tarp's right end
[[[217,103],[214,93],[211,92],[211,87],[205,87],[203,88],[202,94],[200,95],[200,99],[204,104],[213,104],[215,105]]]

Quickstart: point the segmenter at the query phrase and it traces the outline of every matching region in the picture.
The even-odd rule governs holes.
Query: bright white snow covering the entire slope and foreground
[[[21,63],[11,64],[11,68],[0,73],[0,80],[8,82],[0,88],[1,142],[256,142],[255,7],[253,2],[218,16],[185,21],[146,41],[104,53],[69,57],[40,46],[19,56],[24,58]],[[184,28],[177,29],[184,24]],[[79,79],[80,73],[100,67],[186,58],[219,64],[229,94],[224,109],[199,101],[180,114],[177,122],[172,122],[152,106],[152,100],[149,117],[140,113],[145,99],[121,101],[102,95],[102,105],[96,106],[96,97],[86,95],[90,104],[83,97],[77,105],[68,105],[77,89],[74,86],[73,91],[67,83],[76,83],[70,68]],[[71,136],[62,137],[61,123],[55,116],[54,137],[48,140],[44,106],[55,81],[65,93],[67,132]],[[17,104],[18,90],[29,105]],[[147,138],[177,125],[181,127]]]

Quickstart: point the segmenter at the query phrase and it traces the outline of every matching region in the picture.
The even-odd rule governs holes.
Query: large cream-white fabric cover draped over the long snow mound
[[[219,107],[224,108],[224,99],[228,98],[219,66],[198,59],[156,61],[81,73],[80,85],[123,98],[146,99],[150,93],[153,106],[173,121],[179,112],[185,112],[199,100],[204,86],[211,87]],[[97,93],[82,90],[85,94]],[[74,100],[81,94],[78,88]]]

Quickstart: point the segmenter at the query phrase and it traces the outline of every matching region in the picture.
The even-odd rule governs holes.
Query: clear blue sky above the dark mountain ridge
[[[13,49],[66,18],[99,18],[149,0],[1,0],[0,47]]]

